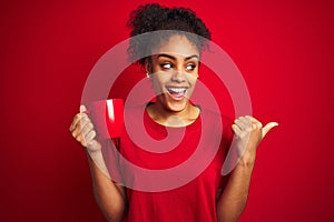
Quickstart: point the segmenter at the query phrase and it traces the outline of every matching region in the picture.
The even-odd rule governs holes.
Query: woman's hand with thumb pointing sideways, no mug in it
[[[232,129],[236,135],[236,144],[242,163],[253,164],[256,158],[256,149],[264,137],[277,122],[269,122],[265,127],[250,115],[239,117],[234,121]]]

